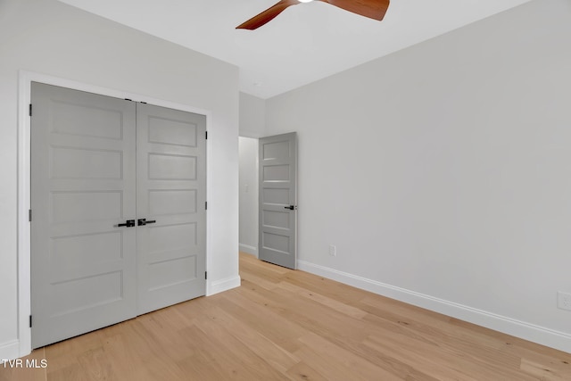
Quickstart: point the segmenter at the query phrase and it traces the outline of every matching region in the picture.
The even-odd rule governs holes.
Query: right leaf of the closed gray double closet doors
[[[137,104],[138,313],[206,292],[206,117]]]

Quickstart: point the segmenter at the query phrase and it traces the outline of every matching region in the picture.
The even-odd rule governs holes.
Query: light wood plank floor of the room
[[[241,254],[242,286],[34,351],[0,380],[571,380],[571,354]]]

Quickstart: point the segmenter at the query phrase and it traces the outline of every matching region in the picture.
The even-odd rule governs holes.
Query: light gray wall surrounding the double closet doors
[[[238,69],[54,0],[0,1],[0,358],[18,336],[19,70],[211,111],[209,282],[239,283]],[[18,353],[16,353],[18,354]]]

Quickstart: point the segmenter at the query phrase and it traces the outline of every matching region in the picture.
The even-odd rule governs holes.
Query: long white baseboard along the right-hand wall
[[[477,310],[466,305],[445,301],[434,296],[420,294],[401,287],[387,285],[366,277],[358,277],[336,269],[329,269],[306,261],[297,261],[297,268],[311,274],[336,280],[371,293],[380,294],[401,302],[416,305],[426,310],[443,313],[478,326],[517,336],[519,338],[571,353],[571,335],[546,327],[536,326],[517,319]]]

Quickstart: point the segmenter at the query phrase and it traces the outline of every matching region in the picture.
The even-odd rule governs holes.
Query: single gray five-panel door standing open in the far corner
[[[289,269],[297,264],[297,137],[260,139],[259,258]]]

